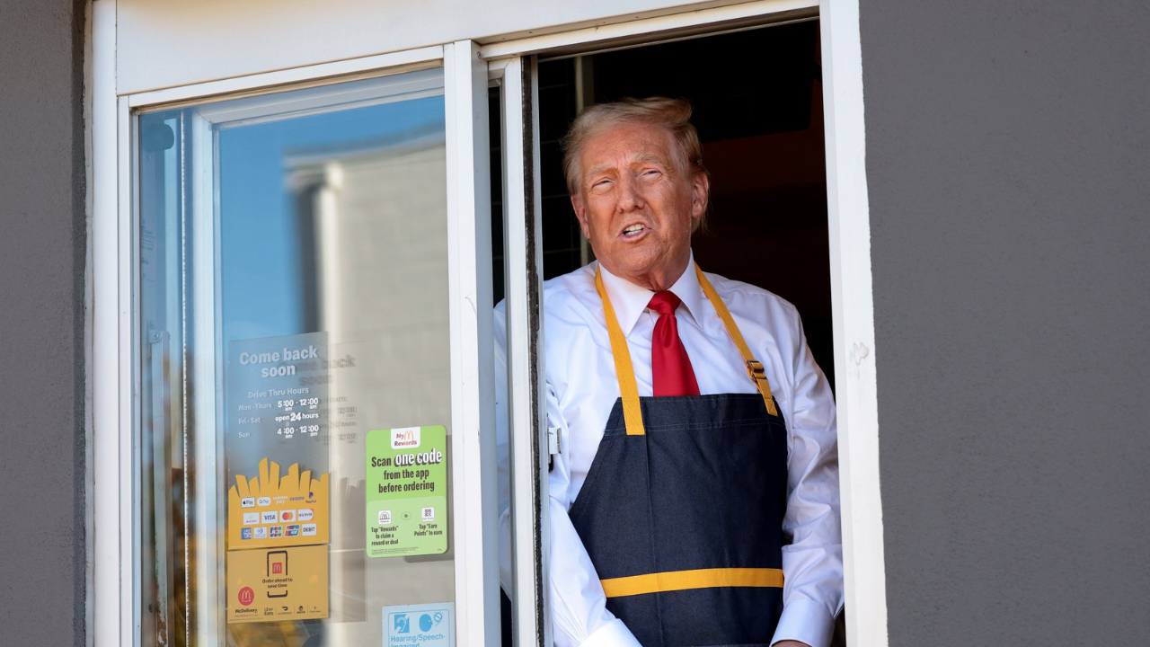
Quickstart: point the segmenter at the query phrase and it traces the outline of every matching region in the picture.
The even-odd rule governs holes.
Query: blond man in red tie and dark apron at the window
[[[555,645],[826,647],[834,398],[792,305],[695,264],[711,178],[690,114],[603,104],[565,139],[597,260],[544,288]]]

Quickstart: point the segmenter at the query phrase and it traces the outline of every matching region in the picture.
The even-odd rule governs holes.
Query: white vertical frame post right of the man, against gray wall
[[[846,635],[885,647],[887,579],[858,0],[820,2]]]

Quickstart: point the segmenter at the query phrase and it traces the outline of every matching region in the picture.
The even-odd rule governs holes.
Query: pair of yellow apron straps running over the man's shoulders
[[[731,341],[735,342],[735,347],[738,348],[738,353],[743,356],[743,361],[746,363],[746,374],[751,376],[751,381],[759,388],[759,394],[762,395],[762,403],[767,405],[767,412],[772,416],[777,416],[779,411],[775,409],[775,398],[770,396],[770,381],[767,380],[762,364],[759,364],[751,355],[751,349],[743,341],[743,334],[738,332],[738,326],[735,325],[730,312],[722,303],[722,297],[711,286],[711,281],[707,281],[703,271],[699,269],[698,264],[695,265],[695,273],[699,277],[699,286],[703,288],[703,292],[707,295],[707,300],[711,302],[711,305],[719,313],[723,326],[727,327],[727,334],[730,335]],[[603,315],[607,324],[607,337],[611,338],[611,355],[615,360],[619,393],[623,399],[623,421],[627,423],[627,435],[642,436],[646,432],[643,429],[643,410],[639,408],[639,389],[635,385],[635,367],[631,365],[631,351],[627,348],[627,337],[623,336],[623,330],[619,327],[619,318],[615,317],[615,309],[611,306],[607,289],[603,287],[603,275],[599,273],[598,266],[595,268],[595,289],[599,291],[599,298],[603,299]]]

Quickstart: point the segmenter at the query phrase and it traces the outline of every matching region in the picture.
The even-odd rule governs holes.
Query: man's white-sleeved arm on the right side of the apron
[[[843,604],[843,549],[838,511],[835,401],[814,363],[798,313],[793,314],[793,388],[783,517],[783,615],[774,644],[830,642]],[[780,642],[784,641],[784,642]]]

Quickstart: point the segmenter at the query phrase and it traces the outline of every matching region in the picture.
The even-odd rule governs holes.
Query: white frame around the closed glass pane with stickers
[[[109,37],[110,3],[93,5],[93,43]],[[114,9],[114,5],[112,5]],[[114,43],[114,41],[113,41]],[[99,54],[97,53],[99,52]],[[494,484],[494,374],[491,303],[490,180],[488,176],[486,63],[470,40],[122,97],[107,51],[93,48],[93,594],[94,644],[135,645],[139,573],[137,489],[139,341],[136,304],[133,111],[178,101],[274,92],[334,78],[377,76],[428,63],[444,68],[447,154],[447,273],[452,374],[452,462],[455,505],[455,632],[461,644],[491,645],[499,637],[498,535]],[[109,76],[110,75],[110,76]],[[210,214],[199,214],[207,221]],[[200,224],[205,224],[200,222]],[[201,227],[193,235],[202,237]],[[207,249],[210,249],[208,246]],[[210,252],[208,252],[210,253]],[[214,265],[209,262],[209,267]],[[195,289],[208,289],[194,286]],[[210,303],[208,299],[206,303]],[[213,322],[204,325],[213,326]],[[489,437],[490,436],[490,437]],[[209,439],[210,440],[210,439]],[[465,540],[466,538],[466,540]],[[478,539],[478,541],[476,541]],[[463,638],[466,637],[466,638]]]

